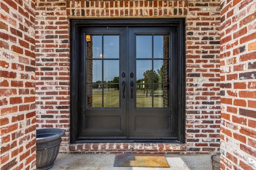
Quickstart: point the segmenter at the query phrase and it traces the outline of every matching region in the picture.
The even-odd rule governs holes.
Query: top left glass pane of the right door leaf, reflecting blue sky
[[[136,58],[152,58],[152,35],[136,36]]]

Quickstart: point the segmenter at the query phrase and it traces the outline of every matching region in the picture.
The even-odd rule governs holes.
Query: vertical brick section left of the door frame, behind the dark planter
[[[38,128],[66,131],[60,150],[68,150],[69,20],[65,0],[36,2],[36,118]]]

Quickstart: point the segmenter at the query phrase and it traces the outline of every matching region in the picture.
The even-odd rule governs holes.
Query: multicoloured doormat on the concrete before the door
[[[164,154],[117,153],[114,166],[169,168]]]

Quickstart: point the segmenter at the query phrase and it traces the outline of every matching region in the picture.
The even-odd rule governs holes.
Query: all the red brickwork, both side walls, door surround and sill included
[[[254,0],[1,0],[0,6],[1,170],[35,168],[36,126],[65,129],[64,152],[96,152],[104,147],[144,152],[178,147],[69,147],[68,19],[152,16],[186,17],[187,147],[178,147],[180,152],[218,152],[220,138],[222,169],[255,169]]]

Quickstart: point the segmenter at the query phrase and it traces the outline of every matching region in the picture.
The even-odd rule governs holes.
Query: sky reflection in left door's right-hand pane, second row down
[[[108,82],[119,76],[119,60],[104,60],[103,80]]]

